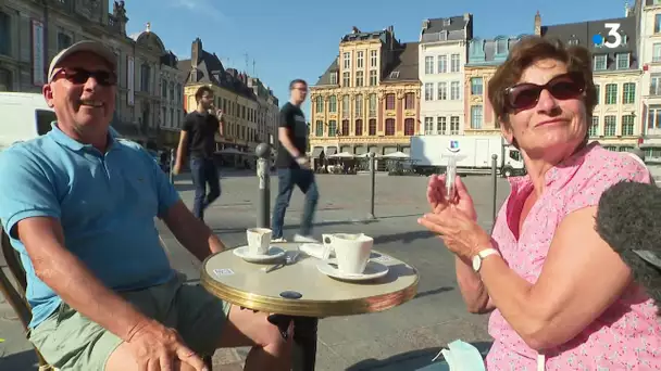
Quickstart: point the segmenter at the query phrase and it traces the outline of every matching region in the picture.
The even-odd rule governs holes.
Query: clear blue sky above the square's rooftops
[[[150,22],[151,30],[179,59],[190,56],[190,43],[199,37],[204,50],[215,52],[225,67],[259,77],[284,104],[289,81],[303,78],[315,84],[352,26],[371,31],[392,25],[401,41],[417,41],[424,18],[469,12],[474,15],[475,36],[489,38],[533,33],[537,10],[542,24],[550,25],[624,16],[624,0],[128,0],[126,11],[128,34],[144,30]]]

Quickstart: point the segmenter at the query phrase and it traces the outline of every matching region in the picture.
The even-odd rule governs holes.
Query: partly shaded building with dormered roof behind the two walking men
[[[235,68],[225,69],[214,53],[202,48],[199,38],[192,42],[190,55],[190,60],[179,62],[179,69],[186,74],[184,110],[196,110],[196,91],[201,86],[210,87],[225,119],[224,137],[216,135],[216,149],[254,154],[259,143],[275,135],[279,119],[277,98],[259,79]]]

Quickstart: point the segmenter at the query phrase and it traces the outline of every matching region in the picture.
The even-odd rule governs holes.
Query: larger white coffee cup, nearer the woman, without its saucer
[[[363,233],[322,234],[324,246],[335,251],[337,270],[346,274],[365,271],[374,239]]]

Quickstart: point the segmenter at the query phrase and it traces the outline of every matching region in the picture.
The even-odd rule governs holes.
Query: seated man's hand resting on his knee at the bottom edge
[[[197,371],[209,371],[204,361],[188,348],[174,329],[150,320],[136,327],[126,342],[138,362],[138,370],[174,370],[176,360]]]

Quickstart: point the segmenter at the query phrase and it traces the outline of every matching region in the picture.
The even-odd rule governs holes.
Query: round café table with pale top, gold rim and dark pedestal
[[[299,245],[273,244],[287,254],[294,254]],[[387,266],[388,273],[372,281],[347,282],[320,272],[316,265],[322,260],[302,253],[296,263],[266,272],[265,268],[278,261],[248,263],[227,250],[204,260],[200,280],[202,286],[223,300],[277,314],[270,321],[283,332],[294,321],[294,370],[312,371],[320,318],[382,311],[415,296],[419,281],[415,268],[374,250],[371,259]]]

